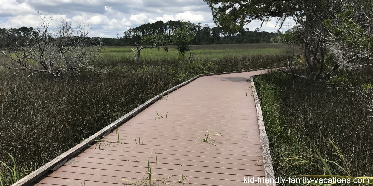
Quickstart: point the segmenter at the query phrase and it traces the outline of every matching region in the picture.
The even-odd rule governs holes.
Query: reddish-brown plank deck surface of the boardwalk
[[[35,185],[128,183],[121,179],[137,182],[147,172],[144,161],[152,150],[157,155],[150,157],[152,179],[169,177],[166,183],[173,185],[264,185],[243,182],[244,176],[264,176],[257,112],[250,88],[250,76],[263,72],[199,77],[119,126],[122,143],[116,143],[114,131],[101,139],[112,143],[90,146],[38,179]],[[155,119],[157,113],[163,118]],[[203,138],[209,128],[223,134],[211,136],[216,146],[196,144],[195,136]],[[184,184],[178,183],[182,174],[187,177]],[[158,181],[155,185],[163,183]]]

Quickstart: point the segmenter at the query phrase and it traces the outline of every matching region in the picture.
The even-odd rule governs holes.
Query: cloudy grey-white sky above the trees
[[[211,9],[203,0],[0,0],[0,28],[34,27],[41,22],[37,15],[53,17],[50,26],[55,27],[61,18],[72,23],[91,25],[89,36],[116,38],[129,28],[162,20],[201,22],[215,26]],[[246,28],[254,30],[261,22],[254,21]],[[285,31],[292,25],[285,22]],[[261,30],[276,32],[276,19]]]

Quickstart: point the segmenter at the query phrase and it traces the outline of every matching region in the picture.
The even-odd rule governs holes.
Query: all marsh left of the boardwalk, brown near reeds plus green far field
[[[26,78],[0,70],[0,168],[10,185],[151,97],[197,74],[283,65],[300,56],[284,44],[193,45],[194,58],[175,47],[143,49],[136,63],[130,47],[106,47],[96,66],[106,74],[85,73],[59,79]],[[0,60],[9,60],[5,57]],[[14,157],[14,162],[7,154]],[[14,165],[15,164],[15,165]],[[4,178],[6,177],[6,179]]]

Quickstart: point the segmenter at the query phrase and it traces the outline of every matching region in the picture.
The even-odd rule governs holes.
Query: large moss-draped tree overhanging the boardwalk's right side
[[[281,27],[287,18],[295,21],[291,32],[303,45],[307,69],[297,74],[288,62],[292,76],[325,82],[338,68],[353,70],[372,65],[372,0],[205,0],[214,22],[229,32],[236,32],[253,20],[278,19]],[[331,54],[333,64],[325,64]]]

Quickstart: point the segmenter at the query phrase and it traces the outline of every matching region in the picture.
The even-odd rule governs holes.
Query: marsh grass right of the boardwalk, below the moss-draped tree
[[[372,67],[337,76],[357,86],[372,83]],[[336,82],[332,88],[302,83],[277,71],[254,81],[275,177],[373,175],[373,118],[352,90],[336,89]]]

